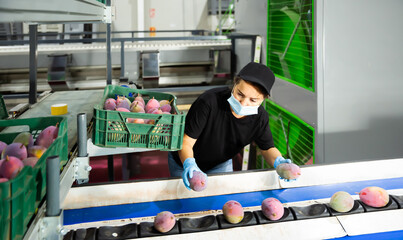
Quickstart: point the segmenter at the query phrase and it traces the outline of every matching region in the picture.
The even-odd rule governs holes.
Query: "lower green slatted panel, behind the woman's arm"
[[[273,101],[266,100],[266,111],[269,113],[274,145],[281,154],[297,165],[313,164],[314,128]],[[256,167],[268,168],[269,166],[262,157],[258,156]]]

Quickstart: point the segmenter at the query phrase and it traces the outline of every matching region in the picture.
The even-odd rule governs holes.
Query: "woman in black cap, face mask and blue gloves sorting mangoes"
[[[269,116],[261,106],[274,80],[268,67],[250,62],[235,77],[232,89],[214,88],[200,95],[186,115],[182,149],[168,155],[171,176],[182,176],[190,190],[193,171],[231,172],[232,157],[252,141],[274,168],[290,163],[274,147]]]

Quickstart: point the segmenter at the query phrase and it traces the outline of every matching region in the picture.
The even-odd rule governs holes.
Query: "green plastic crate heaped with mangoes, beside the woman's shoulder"
[[[130,101],[141,94],[144,101],[151,98],[172,101],[171,115],[148,114],[104,110],[107,98],[125,96]],[[154,124],[128,123],[127,118],[152,119]],[[92,141],[100,147],[137,147],[174,151],[182,148],[185,114],[176,107],[176,97],[172,94],[149,92],[109,85],[104,90],[102,101],[94,107],[94,130]]]

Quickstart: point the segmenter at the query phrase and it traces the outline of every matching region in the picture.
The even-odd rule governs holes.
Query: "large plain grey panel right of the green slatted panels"
[[[403,156],[403,2],[318,1],[319,162]],[[362,6],[365,6],[363,8]],[[343,13],[340,15],[340,13]],[[359,17],[357,17],[359,14]],[[380,15],[381,14],[381,15]],[[382,149],[382,150],[380,150]]]

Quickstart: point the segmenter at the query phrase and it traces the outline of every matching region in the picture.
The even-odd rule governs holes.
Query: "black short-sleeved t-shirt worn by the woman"
[[[196,99],[186,115],[185,133],[197,139],[193,152],[202,171],[229,160],[252,141],[263,150],[274,147],[269,115],[263,106],[258,114],[238,119],[227,101],[230,96],[227,87],[210,89]],[[173,157],[182,166],[177,152]]]

